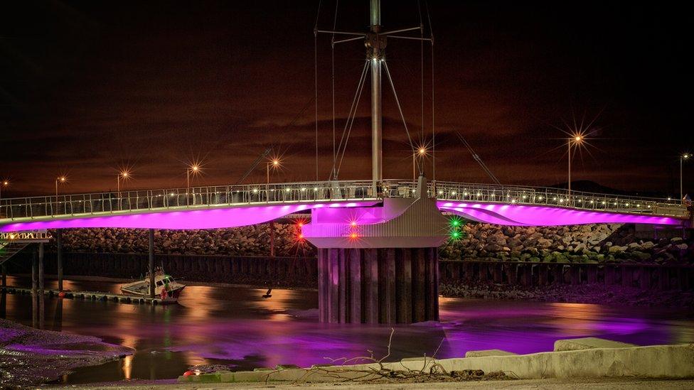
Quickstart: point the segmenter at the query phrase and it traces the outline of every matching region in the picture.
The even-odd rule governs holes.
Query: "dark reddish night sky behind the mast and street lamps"
[[[567,180],[555,126],[594,120],[572,178],[678,195],[692,151],[691,13],[663,6],[431,0],[437,180],[489,183],[463,134],[502,183]],[[318,1],[15,1],[0,12],[2,196],[235,183],[267,147],[272,180],[315,180],[314,22]],[[322,1],[330,29],[335,1]],[[425,29],[429,23],[422,1]],[[416,1],[383,0],[385,29],[418,26]],[[341,1],[337,28],[365,31],[368,1]],[[418,36],[415,32],[413,35]],[[319,176],[332,166],[330,37],[319,36]],[[365,48],[336,46],[338,138]],[[388,40],[408,126],[422,131],[420,43]],[[431,140],[431,48],[425,134]],[[367,86],[368,88],[368,86]],[[385,90],[385,86],[384,86]],[[370,95],[361,99],[340,178],[370,178]],[[407,136],[384,92],[384,177],[411,178]],[[427,176],[432,175],[431,161]],[[245,183],[265,181],[265,165]],[[685,166],[694,188],[694,162]]]

